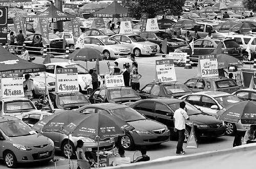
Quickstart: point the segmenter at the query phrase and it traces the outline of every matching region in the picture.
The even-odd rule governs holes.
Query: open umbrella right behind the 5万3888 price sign
[[[217,54],[218,68],[243,65],[243,62],[227,54]]]

